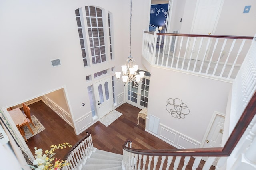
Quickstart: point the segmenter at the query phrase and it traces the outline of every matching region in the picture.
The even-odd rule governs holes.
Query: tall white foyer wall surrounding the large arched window
[[[113,14],[115,60],[84,68],[74,11],[88,5]],[[143,69],[141,32],[148,27],[149,8],[149,0],[133,1],[132,56],[140,69]],[[81,119],[91,111],[87,87],[102,79],[86,82],[86,76],[113,66],[121,69],[129,55],[130,0],[3,0],[0,23],[0,106],[3,108],[64,87],[73,122],[84,125]],[[52,67],[50,60],[58,58],[61,66]],[[113,75],[110,72],[107,76]],[[118,84],[116,95],[123,91],[123,84]],[[81,105],[83,102],[85,106]],[[92,119],[86,123],[92,124]],[[76,133],[82,130],[76,125],[75,128]]]

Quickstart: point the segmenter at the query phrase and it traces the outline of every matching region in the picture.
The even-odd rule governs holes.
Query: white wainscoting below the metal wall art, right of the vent
[[[186,148],[199,148],[201,143],[187,137],[182,133],[178,133],[177,131],[167,127],[163,124],[159,124],[159,134],[158,138],[170,143],[172,146],[178,149],[186,149]]]

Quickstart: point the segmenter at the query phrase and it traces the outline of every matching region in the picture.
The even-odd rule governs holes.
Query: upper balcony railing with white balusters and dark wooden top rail
[[[142,56],[151,64],[234,79],[253,37],[144,31]]]

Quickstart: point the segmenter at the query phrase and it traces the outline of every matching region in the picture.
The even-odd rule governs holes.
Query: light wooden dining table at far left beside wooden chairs
[[[15,125],[27,125],[29,131],[34,134],[34,132],[32,131],[30,125],[28,124],[28,120],[27,118],[24,116],[24,114],[22,113],[22,111],[20,110],[20,108],[16,108],[13,110],[8,111],[10,116],[12,117],[12,120],[14,121]]]

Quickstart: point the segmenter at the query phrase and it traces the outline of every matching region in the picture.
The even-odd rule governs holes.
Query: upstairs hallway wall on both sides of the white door
[[[175,10],[184,11],[183,16],[180,16],[182,18],[180,33],[191,33],[196,2],[197,0],[174,0],[177,6]],[[251,5],[250,12],[243,13],[244,7],[248,5]],[[256,1],[254,0],[224,0],[214,35],[254,36],[256,33],[255,9]],[[177,22],[176,20],[177,16],[174,15],[173,21]]]

